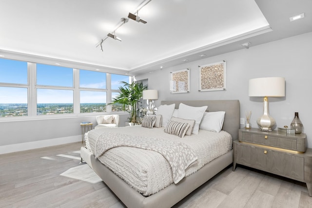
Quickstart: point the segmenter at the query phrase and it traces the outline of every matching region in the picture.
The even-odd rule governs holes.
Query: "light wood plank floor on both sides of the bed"
[[[103,182],[60,175],[85,165],[81,143],[0,155],[1,208],[125,208]],[[66,156],[72,156],[72,158]],[[304,183],[232,166],[217,174],[174,208],[312,208]]]

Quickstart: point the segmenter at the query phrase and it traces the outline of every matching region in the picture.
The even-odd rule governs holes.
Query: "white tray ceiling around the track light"
[[[312,0],[0,0],[0,55],[137,75],[312,31]],[[304,19],[289,18],[305,13]]]

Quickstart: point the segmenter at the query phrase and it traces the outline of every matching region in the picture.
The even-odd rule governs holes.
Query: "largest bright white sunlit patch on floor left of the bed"
[[[102,181],[102,179],[98,177],[97,173],[95,173],[94,170],[92,170],[88,164],[70,168],[65,172],[61,173],[60,175],[68,178],[86,181],[92,184],[96,184]]]

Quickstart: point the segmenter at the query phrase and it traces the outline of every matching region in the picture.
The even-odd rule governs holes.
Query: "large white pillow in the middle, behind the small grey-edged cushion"
[[[193,107],[193,106],[188,106],[183,103],[180,103],[177,117],[189,119],[189,120],[195,120],[195,125],[194,125],[194,129],[192,133],[198,134],[199,123],[207,108],[208,106]]]

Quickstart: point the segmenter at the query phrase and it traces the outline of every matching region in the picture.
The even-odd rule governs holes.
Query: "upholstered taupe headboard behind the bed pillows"
[[[161,105],[176,104],[176,109],[180,103],[185,105],[200,107],[207,105],[207,112],[225,111],[223,131],[229,132],[233,140],[238,139],[238,130],[240,128],[240,107],[239,100],[172,100],[161,101]]]

